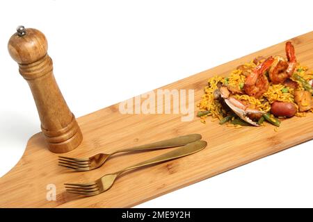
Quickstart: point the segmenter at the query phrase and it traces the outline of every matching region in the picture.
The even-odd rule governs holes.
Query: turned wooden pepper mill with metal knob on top
[[[79,146],[83,135],[58,88],[47,49],[45,35],[24,26],[19,26],[8,42],[10,56],[31,87],[49,150],[65,153]]]

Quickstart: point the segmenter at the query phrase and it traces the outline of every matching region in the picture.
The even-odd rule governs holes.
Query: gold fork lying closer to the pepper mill
[[[172,139],[166,139],[166,140],[162,140],[159,142],[154,142],[152,144],[145,144],[142,146],[126,148],[126,149],[118,150],[109,154],[98,153],[89,158],[77,159],[77,158],[72,158],[72,157],[59,156],[58,165],[62,167],[67,167],[69,169],[73,169],[75,171],[90,171],[92,169],[101,167],[102,164],[104,164],[104,162],[106,162],[106,160],[108,160],[109,157],[111,157],[111,155],[114,155],[115,153],[131,152],[131,151],[151,151],[151,150],[161,149],[161,148],[184,146],[191,142],[195,142],[199,139],[201,139],[200,134],[189,134],[189,135],[184,135],[181,137],[175,137]]]

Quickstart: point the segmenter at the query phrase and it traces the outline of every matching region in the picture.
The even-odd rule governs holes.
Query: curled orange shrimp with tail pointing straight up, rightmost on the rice
[[[291,42],[286,42],[285,51],[287,61],[280,56],[275,56],[275,62],[273,62],[273,65],[268,72],[273,84],[284,83],[284,80],[291,77],[294,73],[294,69],[296,69],[296,55],[294,46]]]

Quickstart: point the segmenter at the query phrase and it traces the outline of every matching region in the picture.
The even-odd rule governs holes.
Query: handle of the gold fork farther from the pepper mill
[[[159,155],[157,157],[154,157],[150,160],[145,160],[145,161],[140,162],[138,164],[135,164],[131,167],[127,167],[125,169],[122,169],[121,171],[118,171],[117,174],[123,173],[125,171],[129,171],[131,169],[136,169],[139,167],[145,167],[147,165],[152,165],[152,164],[159,164],[161,162],[166,162],[169,160],[177,159],[179,157],[184,157],[186,155],[191,155],[193,153],[197,153],[198,151],[201,151],[206,146],[207,146],[207,142],[205,142],[203,140],[192,142],[191,144],[186,144],[185,146],[179,147],[179,148],[175,149],[174,151],[164,153],[164,154]]]

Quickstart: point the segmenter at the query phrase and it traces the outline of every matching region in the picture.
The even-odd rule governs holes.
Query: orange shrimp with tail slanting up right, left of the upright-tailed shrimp
[[[269,57],[252,70],[252,73],[246,78],[245,84],[243,85],[243,90],[246,94],[259,98],[267,91],[269,83],[264,72],[271,67],[273,62],[274,58]]]

